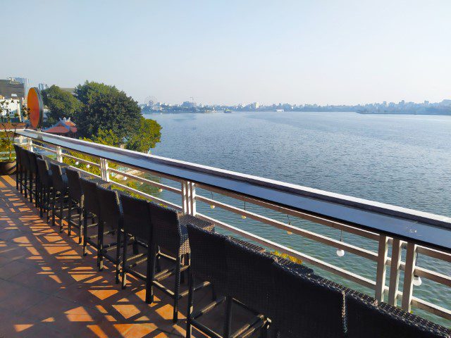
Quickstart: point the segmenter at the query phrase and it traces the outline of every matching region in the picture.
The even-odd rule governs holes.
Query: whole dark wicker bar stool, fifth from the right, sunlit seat
[[[214,231],[214,225],[192,215],[183,215],[173,209],[163,208],[153,203],[149,203],[149,207],[152,220],[152,246],[150,248],[152,253],[152,286],[148,301],[150,303],[153,301],[154,286],[171,296],[174,300],[173,322],[177,323],[178,301],[188,294],[188,290],[180,292],[180,275],[187,270],[190,264],[190,242],[188,240],[187,224],[197,225],[209,231]],[[175,261],[175,267],[155,273],[155,263],[160,258]],[[175,277],[173,290],[161,284],[162,280],[172,275]]]

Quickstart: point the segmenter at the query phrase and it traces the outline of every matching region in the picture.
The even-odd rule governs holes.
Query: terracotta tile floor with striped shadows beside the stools
[[[154,303],[144,303],[144,284],[132,277],[122,290],[113,265],[98,272],[94,254],[83,257],[77,240],[39,218],[13,177],[0,177],[1,338],[185,336],[186,297],[174,325],[172,299],[156,291]],[[210,298],[207,288],[195,296]],[[222,313],[209,313],[205,324],[221,332]],[[246,315],[237,313],[237,323]]]

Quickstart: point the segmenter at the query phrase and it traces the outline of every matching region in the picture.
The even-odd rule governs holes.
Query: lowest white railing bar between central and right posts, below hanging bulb
[[[240,230],[237,227],[233,227],[232,225],[228,225],[227,223],[223,223],[220,220],[216,220],[216,219],[211,218],[202,213],[196,213],[196,217],[201,218],[202,220],[206,220],[208,222],[214,223],[215,225],[223,227],[224,229],[226,229],[230,232],[234,232],[235,234],[239,234],[242,237],[251,239],[254,242],[263,244],[264,246],[268,246],[271,249],[275,249],[277,251],[287,253],[290,256],[299,258],[302,261],[306,261],[307,263],[310,263],[311,265],[318,266],[319,268],[329,271],[330,273],[335,273],[335,275],[344,277],[347,280],[351,280],[352,282],[357,282],[358,284],[361,284],[364,287],[369,287],[370,289],[374,289],[376,287],[376,282],[369,280],[368,278],[362,277],[360,275],[357,275],[355,273],[350,273],[349,271],[347,271],[345,269],[338,268],[337,266],[326,263],[324,261],[321,261],[318,258],[308,256],[304,253],[300,253],[299,251],[290,249],[287,246],[283,246],[283,245],[277,244],[275,242],[268,241],[267,239],[264,239],[262,237],[254,235],[254,234],[251,234],[250,232],[247,232],[245,230]]]

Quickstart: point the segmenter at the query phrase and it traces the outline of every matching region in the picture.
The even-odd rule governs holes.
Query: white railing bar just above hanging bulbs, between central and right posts
[[[292,232],[294,234],[299,234],[302,237],[306,237],[309,239],[313,239],[316,242],[321,242],[326,245],[335,246],[338,249],[343,249],[345,251],[348,251],[350,253],[354,253],[358,256],[362,256],[364,258],[368,258],[371,261],[377,261],[378,255],[377,253],[373,251],[369,251],[366,249],[361,249],[358,246],[354,246],[352,244],[347,244],[345,242],[340,242],[336,239],[331,239],[329,237],[323,236],[321,234],[316,234],[314,232],[311,232],[309,230],[303,230],[299,227],[295,227],[292,225],[288,225],[286,223],[280,222],[278,220],[273,220],[272,218],[267,218],[265,216],[257,215],[257,213],[252,213],[240,208],[236,208],[235,206],[230,206],[228,204],[224,204],[218,201],[215,201],[213,199],[209,199],[204,196],[197,195],[196,196],[197,201],[202,201],[206,204],[211,204],[214,206],[218,206],[220,208],[223,208],[227,211],[231,211],[233,213],[237,213],[238,215],[245,215],[246,217],[252,218],[253,220],[258,220],[259,222],[266,223],[268,225],[272,225],[273,227],[277,227],[278,229],[285,230],[288,232]]]

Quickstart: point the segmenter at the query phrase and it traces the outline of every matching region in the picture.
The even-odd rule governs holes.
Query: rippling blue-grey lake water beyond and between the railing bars
[[[362,197],[397,206],[451,215],[451,116],[360,115],[357,113],[239,112],[149,114],[163,127],[152,154]],[[166,183],[166,181],[165,181]],[[146,188],[142,188],[146,189]],[[200,192],[200,194],[206,194]],[[180,204],[180,196],[160,194]],[[207,197],[209,194],[206,194]],[[237,201],[214,198],[235,206]],[[376,264],[297,235],[290,235],[219,208],[198,211],[285,244],[371,279]],[[338,230],[247,205],[247,210],[340,239]],[[377,244],[352,234],[343,240],[377,251]],[[419,256],[419,266],[451,275],[451,264]],[[315,268],[316,271],[320,270]],[[389,269],[388,269],[389,270]],[[340,277],[347,286],[371,294]],[[388,281],[387,281],[388,282]],[[400,287],[402,290],[402,284]],[[451,308],[451,289],[423,280],[414,296]],[[416,311],[445,325],[446,321]]]

